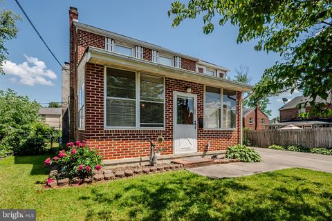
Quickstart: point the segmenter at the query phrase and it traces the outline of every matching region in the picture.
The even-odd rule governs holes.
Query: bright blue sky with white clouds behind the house
[[[98,3],[97,3],[98,2]],[[234,77],[235,68],[248,66],[252,84],[261,78],[264,70],[275,64],[278,55],[254,50],[255,42],[237,44],[238,28],[215,26],[210,35],[203,34],[201,19],[185,20],[172,28],[167,17],[172,0],[167,1],[20,1],[36,28],[59,61],[68,61],[68,8],[74,6],[79,21],[118,32],[122,35],[148,41],[187,55],[229,68]],[[61,102],[61,67],[50,55],[15,1],[1,2],[1,8],[13,10],[23,21],[17,23],[17,39],[6,44],[10,55],[7,75],[0,76],[0,89],[12,88],[19,95],[28,95],[39,103]],[[44,63],[43,63],[44,62]],[[22,72],[27,74],[22,75]],[[23,77],[22,77],[23,76]],[[299,94],[285,93],[270,99],[272,117],[279,115],[281,97],[288,99]]]

